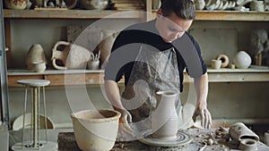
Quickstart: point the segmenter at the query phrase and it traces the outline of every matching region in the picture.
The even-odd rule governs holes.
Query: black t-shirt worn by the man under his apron
[[[135,58],[140,46],[150,46],[158,51],[164,51],[174,47],[177,53],[178,71],[180,79],[180,91],[183,90],[183,71],[192,78],[202,76],[206,71],[206,65],[201,56],[201,49],[195,39],[187,32],[172,43],[165,42],[155,28],[155,20],[132,25],[121,31],[117,36],[105,68],[105,80],[119,81],[125,76],[125,84],[128,82]]]

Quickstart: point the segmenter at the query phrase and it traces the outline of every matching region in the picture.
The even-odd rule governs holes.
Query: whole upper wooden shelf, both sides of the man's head
[[[142,19],[143,11],[96,11],[96,10],[7,10],[5,19]],[[154,12],[149,15],[154,18]],[[196,21],[269,21],[269,12],[197,11]]]

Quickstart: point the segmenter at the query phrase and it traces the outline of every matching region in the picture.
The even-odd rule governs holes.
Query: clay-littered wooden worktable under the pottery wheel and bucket
[[[138,140],[130,141],[130,142],[116,142],[115,146],[111,149],[111,151],[199,151],[201,147],[204,147],[201,142],[203,138],[198,137],[202,134],[207,134],[210,131],[214,130],[200,130],[200,129],[190,129],[184,130],[188,134],[190,134],[193,138],[193,141],[185,147],[152,147],[141,143]],[[81,151],[77,146],[74,138],[74,132],[60,132],[58,134],[58,149],[60,151]],[[232,146],[231,146],[232,147]],[[236,149],[233,147],[232,149]],[[204,151],[226,151],[230,150],[230,147],[223,145],[213,145],[205,148]],[[258,151],[268,151],[269,147],[265,146],[262,142],[257,143]]]

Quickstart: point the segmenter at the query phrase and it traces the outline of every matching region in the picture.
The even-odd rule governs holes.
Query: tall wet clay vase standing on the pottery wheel
[[[156,92],[158,106],[152,113],[152,138],[177,138],[178,114],[175,107],[177,96],[172,91]]]

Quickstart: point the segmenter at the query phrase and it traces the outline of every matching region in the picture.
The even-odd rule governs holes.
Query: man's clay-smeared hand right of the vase
[[[196,105],[195,113],[193,115],[194,122],[198,115],[201,117],[201,125],[206,129],[210,129],[212,126],[212,117],[203,101],[198,102]]]

